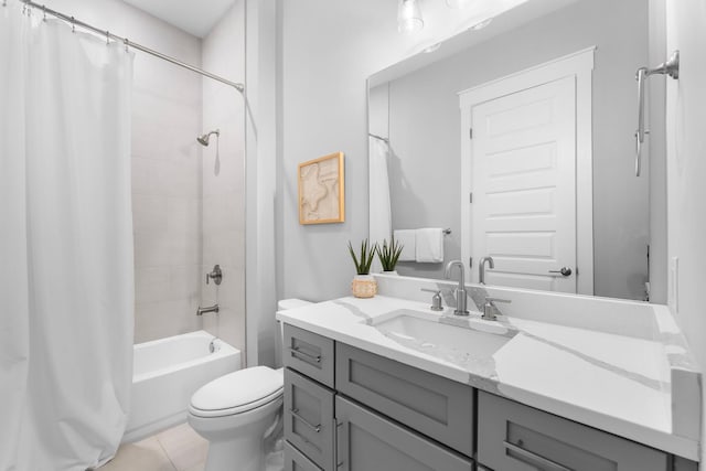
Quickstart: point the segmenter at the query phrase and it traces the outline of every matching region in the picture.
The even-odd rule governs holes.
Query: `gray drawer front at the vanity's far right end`
[[[478,461],[502,471],[665,471],[666,453],[479,392]]]

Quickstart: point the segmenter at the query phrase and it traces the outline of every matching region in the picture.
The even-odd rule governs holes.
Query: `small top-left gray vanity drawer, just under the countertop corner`
[[[333,341],[285,324],[282,363],[319,383],[333,387]]]

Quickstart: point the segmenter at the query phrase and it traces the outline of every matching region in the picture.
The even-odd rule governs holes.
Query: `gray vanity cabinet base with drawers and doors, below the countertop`
[[[696,463],[285,327],[286,471],[695,471]]]

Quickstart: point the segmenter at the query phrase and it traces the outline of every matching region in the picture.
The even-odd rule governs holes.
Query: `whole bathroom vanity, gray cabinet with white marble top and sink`
[[[278,319],[287,470],[698,468],[663,341],[383,296]]]

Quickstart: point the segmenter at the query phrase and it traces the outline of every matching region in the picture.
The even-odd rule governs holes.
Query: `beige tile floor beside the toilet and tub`
[[[282,471],[281,438],[266,459],[265,471]],[[208,442],[189,424],[170,428],[142,441],[122,445],[99,471],[203,471]]]

